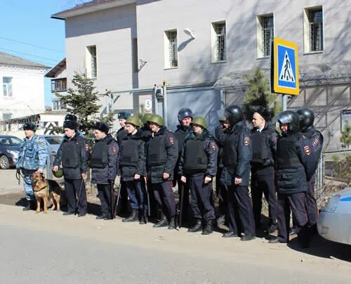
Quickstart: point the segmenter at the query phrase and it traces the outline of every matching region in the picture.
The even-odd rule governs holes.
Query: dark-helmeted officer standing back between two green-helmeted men
[[[183,183],[180,181],[180,176],[178,175],[179,172],[179,162],[180,162],[180,155],[182,153],[183,144],[185,138],[192,133],[192,127],[190,124],[192,123],[192,118],[194,114],[190,108],[180,108],[178,111],[178,122],[176,131],[174,131],[174,136],[176,136],[177,143],[178,143],[178,161],[176,163],[176,167],[174,168],[174,178],[178,183],[178,194],[179,194],[179,202],[183,202],[183,212],[182,212],[182,221],[189,221],[190,214],[190,204],[189,204],[189,192],[190,186],[189,183]],[[182,191],[184,191],[182,193]],[[180,200],[180,197],[183,195],[183,200]]]

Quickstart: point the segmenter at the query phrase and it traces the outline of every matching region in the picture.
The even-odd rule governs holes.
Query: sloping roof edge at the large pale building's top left
[[[51,18],[65,20],[69,17],[136,3],[136,0],[93,0],[51,15]]]

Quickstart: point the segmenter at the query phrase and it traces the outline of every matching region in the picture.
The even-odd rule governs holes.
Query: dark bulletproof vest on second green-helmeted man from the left
[[[167,161],[166,145],[164,143],[164,135],[154,136],[150,138],[147,146],[147,165],[161,166]]]

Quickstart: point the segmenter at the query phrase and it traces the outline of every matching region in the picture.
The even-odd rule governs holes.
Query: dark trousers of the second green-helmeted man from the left
[[[162,183],[152,183],[154,198],[162,209],[166,217],[174,218],[176,216],[176,200],[172,190],[172,181],[164,181]]]

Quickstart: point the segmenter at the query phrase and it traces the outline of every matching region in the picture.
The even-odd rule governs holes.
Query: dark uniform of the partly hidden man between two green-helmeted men
[[[174,179],[178,183],[178,194],[179,194],[179,202],[180,196],[183,194],[183,212],[182,212],[182,219],[183,221],[189,221],[190,219],[190,183],[183,183],[180,181],[179,172],[179,162],[180,162],[180,155],[182,154],[183,144],[185,138],[192,133],[191,127],[184,128],[182,125],[177,125],[176,131],[174,131],[174,136],[176,136],[177,143],[178,143],[178,160],[176,163],[176,167],[174,168]],[[182,193],[182,191],[184,191]]]

